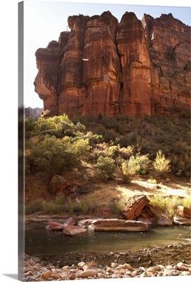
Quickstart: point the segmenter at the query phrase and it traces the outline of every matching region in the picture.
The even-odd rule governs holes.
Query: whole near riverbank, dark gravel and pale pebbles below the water
[[[110,252],[103,256],[84,257],[72,264],[62,264],[54,259],[41,261],[25,255],[24,281],[188,276],[191,275],[190,246],[180,244],[138,252]]]

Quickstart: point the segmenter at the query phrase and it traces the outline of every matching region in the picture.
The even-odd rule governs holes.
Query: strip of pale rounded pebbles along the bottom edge
[[[86,267],[87,266],[87,267]],[[98,265],[99,266],[99,265]],[[112,262],[107,266],[88,266],[85,262],[77,265],[65,265],[62,268],[53,265],[41,266],[38,262],[29,259],[23,274],[23,281],[63,281],[82,279],[106,279],[106,278],[131,278],[131,277],[161,277],[161,276],[188,276],[191,275],[191,264],[178,262],[178,264],[143,267],[134,269],[131,264],[117,264]]]

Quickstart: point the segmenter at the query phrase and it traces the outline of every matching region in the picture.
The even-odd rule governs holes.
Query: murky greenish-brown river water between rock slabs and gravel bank
[[[25,253],[35,257],[87,257],[110,252],[136,251],[144,248],[191,243],[190,226],[156,226],[145,232],[93,232],[66,236],[48,231],[42,224],[25,230]]]

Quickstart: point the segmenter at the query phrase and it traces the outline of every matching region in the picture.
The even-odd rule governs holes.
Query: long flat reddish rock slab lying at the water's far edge
[[[94,231],[147,231],[147,223],[141,221],[129,221],[124,219],[98,219],[93,223]]]

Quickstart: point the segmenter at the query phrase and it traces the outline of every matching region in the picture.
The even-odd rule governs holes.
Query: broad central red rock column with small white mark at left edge
[[[107,11],[88,20],[84,37],[83,84],[86,113],[119,114],[120,59],[115,37],[118,20]]]

